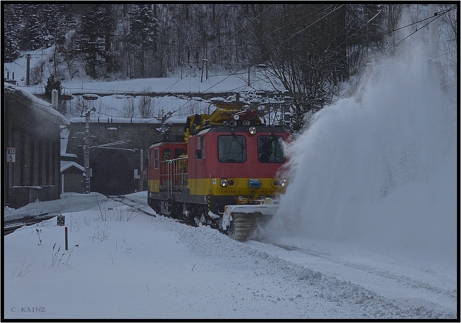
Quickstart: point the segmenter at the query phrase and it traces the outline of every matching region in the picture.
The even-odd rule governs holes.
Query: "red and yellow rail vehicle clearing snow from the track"
[[[150,146],[147,201],[158,214],[243,241],[274,214],[270,202],[285,190],[277,173],[290,133],[245,103],[215,105],[211,114],[187,118],[184,137],[161,135]]]

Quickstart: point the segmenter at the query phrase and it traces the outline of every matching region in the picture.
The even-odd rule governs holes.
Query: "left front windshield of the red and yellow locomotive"
[[[247,160],[244,136],[219,136],[218,160],[220,162],[242,163]]]

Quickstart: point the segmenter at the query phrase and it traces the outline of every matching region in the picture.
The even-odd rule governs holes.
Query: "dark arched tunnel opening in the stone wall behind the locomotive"
[[[130,151],[95,149],[91,151],[91,191],[104,195],[125,195],[136,189],[134,159]]]

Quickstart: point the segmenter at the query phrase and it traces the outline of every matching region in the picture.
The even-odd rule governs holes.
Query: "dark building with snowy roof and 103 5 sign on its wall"
[[[50,103],[4,82],[4,207],[59,199],[60,126]]]

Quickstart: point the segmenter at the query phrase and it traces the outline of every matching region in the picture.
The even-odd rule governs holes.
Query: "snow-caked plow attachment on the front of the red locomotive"
[[[276,204],[243,204],[224,207],[222,229],[237,241],[247,241],[258,226],[266,224],[278,210]]]

